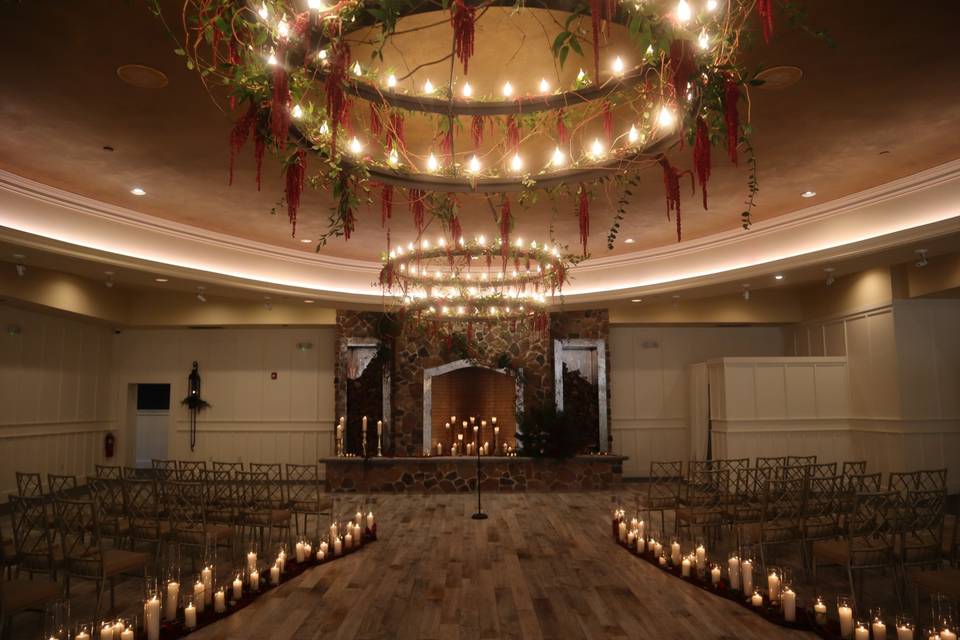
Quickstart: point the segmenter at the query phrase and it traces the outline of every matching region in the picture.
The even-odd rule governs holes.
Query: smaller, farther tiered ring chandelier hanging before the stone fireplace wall
[[[397,290],[406,313],[424,321],[496,322],[537,318],[561,291],[573,260],[556,245],[483,235],[441,238],[384,258],[380,284]]]

